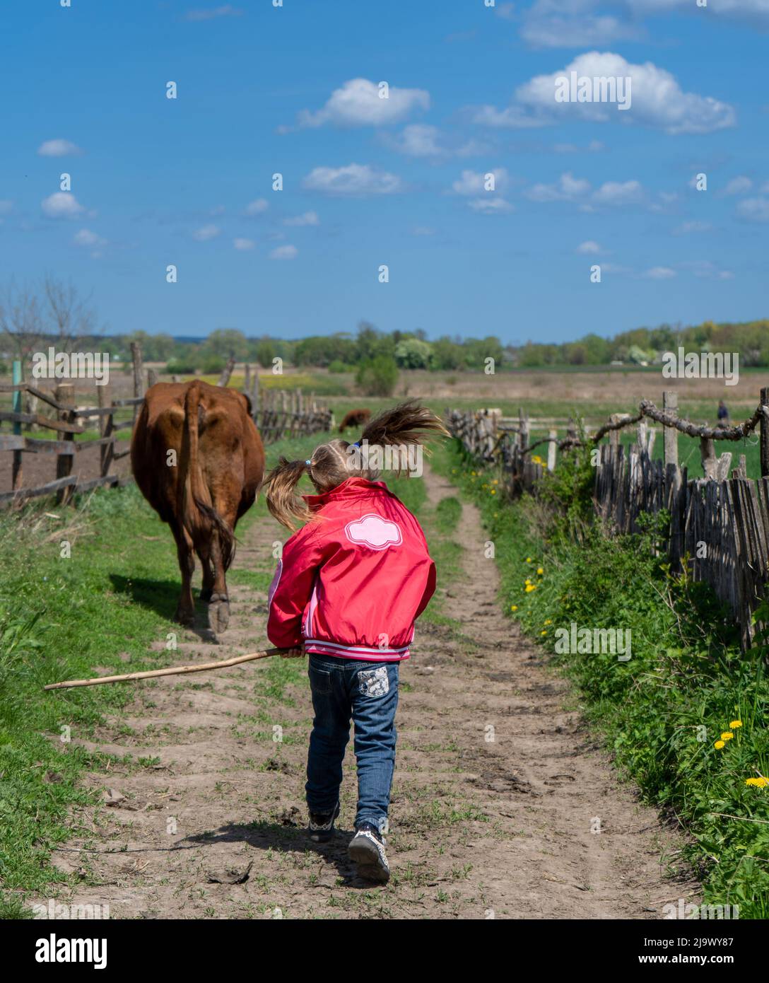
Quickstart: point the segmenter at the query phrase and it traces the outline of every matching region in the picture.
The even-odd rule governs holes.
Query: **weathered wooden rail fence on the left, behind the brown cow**
[[[14,381],[12,384],[0,385],[0,393],[13,394],[12,410],[0,410],[0,427],[10,423],[11,433],[0,431],[0,451],[13,454],[12,491],[0,492],[0,504],[17,503],[28,498],[47,494],[56,494],[59,503],[66,503],[76,492],[88,492],[100,486],[126,485],[134,479],[131,476],[119,477],[112,474],[115,461],[130,453],[129,449],[118,450],[117,441],[125,439],[121,432],[131,431],[137,417],[138,408],[144,399],[144,371],[141,364],[141,351],[135,343],[132,345],[134,356],[134,393],[126,399],[110,399],[108,386],[96,387],[98,406],[76,407],[75,386],[72,382],[64,382],[56,386],[53,392],[47,392],[28,382],[21,381],[21,366],[14,363]],[[235,361],[230,360],[222,376],[220,385],[227,385]],[[333,414],[325,406],[317,403],[314,395],[306,399],[300,390],[286,392],[272,388],[264,388],[259,393],[258,375],[251,374],[246,367],[246,391],[251,400],[251,416],[265,444],[273,443],[284,437],[296,437],[304,434],[325,433],[333,427]],[[153,370],[147,370],[147,385],[157,380]],[[23,412],[23,397],[27,395],[27,403],[35,412]],[[37,403],[41,402],[55,411],[54,415],[43,416],[36,412]],[[117,415],[123,415],[133,408],[129,419],[116,420]],[[123,411],[123,413],[121,413]],[[89,421],[95,422],[99,428],[99,436],[94,439],[76,440],[79,434],[85,434]],[[31,428],[45,428],[56,432],[56,439],[42,439],[29,436]],[[23,433],[27,429],[27,434]],[[128,436],[129,434],[126,434]],[[99,448],[99,475],[87,481],[78,481],[73,475],[76,455],[84,450]],[[47,454],[55,458],[56,478],[44,485],[34,488],[24,484],[24,456],[26,454]]]

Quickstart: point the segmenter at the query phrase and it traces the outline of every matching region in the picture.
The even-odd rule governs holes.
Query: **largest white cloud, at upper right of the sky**
[[[556,102],[556,80],[571,79],[572,72],[577,78],[630,79],[630,108],[620,111],[616,102]],[[518,87],[507,108],[476,107],[472,120],[484,126],[514,128],[552,126],[567,120],[640,123],[675,135],[722,130],[734,126],[736,116],[726,102],[683,91],[670,72],[651,62],[633,65],[622,55],[588,51],[566,68],[535,76]]]

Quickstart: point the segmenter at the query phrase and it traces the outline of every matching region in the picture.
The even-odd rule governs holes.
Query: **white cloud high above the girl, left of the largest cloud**
[[[415,109],[429,109],[430,93],[423,88],[390,86],[388,97],[380,97],[376,83],[368,79],[351,79],[331,93],[322,109],[299,114],[300,127],[386,126],[400,123]],[[284,128],[285,129],[285,128]]]

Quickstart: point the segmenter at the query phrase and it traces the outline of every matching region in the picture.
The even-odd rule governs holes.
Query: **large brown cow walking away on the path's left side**
[[[171,527],[182,570],[176,620],[192,625],[196,552],[203,568],[208,623],[230,619],[225,572],[235,553],[235,526],[261,487],[264,448],[248,397],[193,379],[147,389],[131,444],[137,485]],[[173,453],[172,453],[173,452]]]

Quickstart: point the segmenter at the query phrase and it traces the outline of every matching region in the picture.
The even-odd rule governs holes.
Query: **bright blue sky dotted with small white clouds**
[[[769,0],[5,0],[0,36],[0,280],[110,333],[767,315]],[[573,69],[631,108],[557,104]]]

